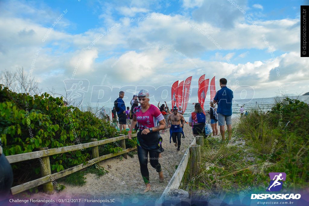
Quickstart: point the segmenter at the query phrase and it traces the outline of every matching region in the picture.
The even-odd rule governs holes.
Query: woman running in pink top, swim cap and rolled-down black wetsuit
[[[137,134],[137,153],[138,161],[141,167],[141,174],[146,184],[144,192],[150,191],[149,171],[147,167],[148,152],[150,158],[150,165],[159,173],[159,181],[164,180],[161,165],[159,163],[159,153],[163,152],[162,137],[159,131],[164,129],[165,120],[160,110],[149,103],[148,90],[141,90],[138,93],[138,101],[141,104],[133,109],[133,120],[130,125],[128,138],[131,140],[131,132],[138,122],[139,132]],[[157,126],[157,121],[160,125]]]

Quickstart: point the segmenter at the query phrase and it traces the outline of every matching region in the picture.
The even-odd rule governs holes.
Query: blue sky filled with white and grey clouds
[[[83,104],[113,102],[120,89],[131,100],[144,87],[152,103],[169,102],[171,85],[190,76],[196,102],[202,74],[217,90],[226,78],[234,99],[273,97],[279,86],[303,94],[300,5],[308,1],[2,0],[0,68],[23,67],[63,95],[75,73],[89,81]]]

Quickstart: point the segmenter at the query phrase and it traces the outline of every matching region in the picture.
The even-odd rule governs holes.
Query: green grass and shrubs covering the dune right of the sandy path
[[[211,195],[265,191],[269,172],[287,174],[283,189],[298,190],[309,181],[309,106],[296,99],[282,99],[268,112],[252,109],[234,128],[229,144],[207,138],[201,148],[198,174],[187,168],[184,189]],[[234,131],[233,130],[233,131]]]

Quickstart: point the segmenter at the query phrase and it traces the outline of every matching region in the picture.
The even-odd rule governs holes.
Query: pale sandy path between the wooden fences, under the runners
[[[232,119],[232,126],[236,121],[237,118]],[[219,126],[218,130],[220,131]],[[169,143],[170,134],[168,130],[164,134],[161,134],[163,137],[162,146],[164,152],[159,162],[162,166],[165,179],[163,183],[160,183],[158,173],[148,163],[152,191],[145,194],[142,194],[145,184],[140,173],[138,157],[135,154],[133,158],[128,156],[128,159],[122,158],[121,160],[118,156],[101,161],[99,165],[108,170],[110,175],[106,174],[97,178],[95,174],[87,174],[87,183],[82,187],[71,186],[68,183],[60,182],[66,187],[63,191],[55,192],[53,195],[40,192],[34,196],[37,199],[85,197],[88,199],[115,198],[118,201],[123,200],[125,197],[131,199],[133,203],[141,199],[157,199],[163,193],[164,186],[167,185],[176,170],[176,165],[179,164],[185,150],[194,139],[189,124],[184,125],[184,134],[185,138],[181,138],[180,151],[176,150],[173,141],[171,141],[171,144]],[[221,139],[221,136],[215,136],[215,138]]]

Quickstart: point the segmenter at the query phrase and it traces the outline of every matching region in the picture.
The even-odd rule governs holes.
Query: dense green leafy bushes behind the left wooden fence
[[[58,148],[78,145],[91,138],[104,140],[117,135],[116,128],[100,120],[90,111],[77,107],[63,107],[62,98],[53,98],[44,93],[30,96],[15,93],[0,85],[0,137],[4,143],[4,154],[14,155],[37,151],[38,148]],[[123,133],[127,131],[123,131]],[[114,143],[99,146],[99,155],[122,151]],[[126,148],[136,145],[136,138],[125,140]],[[52,173],[92,159],[91,148],[50,157]],[[32,159],[11,164],[14,172],[13,186],[40,177],[40,161]]]

